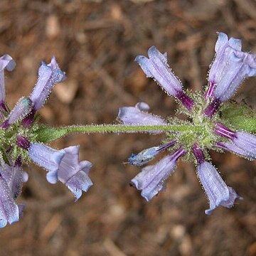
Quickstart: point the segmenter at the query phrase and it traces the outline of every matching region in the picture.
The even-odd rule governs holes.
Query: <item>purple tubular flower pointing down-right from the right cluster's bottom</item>
[[[215,167],[204,159],[203,151],[197,144],[193,146],[193,153],[198,161],[198,177],[210,202],[206,214],[210,215],[218,206],[231,208],[235,199],[242,199],[233,188],[225,184]]]

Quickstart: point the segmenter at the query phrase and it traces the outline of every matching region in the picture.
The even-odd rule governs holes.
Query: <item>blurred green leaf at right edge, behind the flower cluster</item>
[[[223,119],[238,129],[256,132],[256,111],[245,104],[228,103],[221,109]]]

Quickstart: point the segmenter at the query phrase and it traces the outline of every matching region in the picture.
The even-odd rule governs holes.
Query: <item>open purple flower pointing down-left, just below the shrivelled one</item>
[[[132,183],[138,190],[142,191],[142,196],[146,201],[156,196],[164,188],[164,182],[174,172],[176,162],[179,157],[186,154],[182,148],[174,154],[165,156],[154,166],[146,166],[132,179]]]

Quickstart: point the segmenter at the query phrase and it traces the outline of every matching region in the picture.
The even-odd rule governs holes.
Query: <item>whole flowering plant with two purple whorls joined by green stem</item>
[[[245,78],[256,75],[256,55],[242,52],[241,41],[228,39],[218,33],[215,58],[210,65],[208,86],[205,91],[192,93],[183,90],[180,80],[171,71],[166,53],[155,46],[149,48],[149,58],[137,56],[135,61],[149,78],[154,78],[168,95],[180,102],[178,114],[188,118],[166,119],[150,114],[149,105],[139,102],[135,107],[121,107],[118,117],[122,124],[74,125],[48,127],[38,122],[38,110],[46,103],[53,86],[63,82],[65,73],[60,70],[55,58],[49,64],[42,63],[38,81],[29,97],[22,97],[13,110],[5,101],[4,70],[11,71],[15,62],[9,55],[0,58],[0,227],[18,221],[23,204],[16,198],[21,192],[28,174],[23,164],[31,161],[46,169],[50,183],[60,181],[78,200],[82,191],[92,186],[89,161],[79,161],[79,146],[53,149],[48,142],[73,132],[149,132],[165,133],[166,139],[159,146],[132,154],[129,163],[143,166],[160,152],[166,151],[163,159],[145,166],[132,179],[146,201],[164,188],[166,179],[174,172],[178,159],[197,165],[197,174],[208,196],[210,214],[216,207],[230,208],[236,199],[242,199],[235,190],[225,184],[213,164],[208,150],[231,151],[246,159],[256,158],[255,112],[244,105],[228,102]],[[242,122],[240,121],[242,119]],[[170,153],[170,151],[173,151]]]

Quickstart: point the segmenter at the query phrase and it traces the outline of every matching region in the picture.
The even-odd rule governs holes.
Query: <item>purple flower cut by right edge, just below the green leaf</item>
[[[235,146],[238,146],[239,154],[251,159],[255,159],[256,156],[256,136],[248,132],[233,132],[225,127],[225,125],[217,123],[215,128],[215,134],[221,137],[231,139]],[[233,150],[234,151],[234,150]]]

